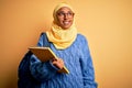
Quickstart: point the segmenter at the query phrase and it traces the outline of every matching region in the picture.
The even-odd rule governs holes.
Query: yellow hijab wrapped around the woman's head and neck
[[[73,22],[72,26],[66,30],[57,25],[56,13],[63,7],[67,7],[74,12],[73,8],[67,3],[59,3],[58,6],[56,6],[53,12],[54,21],[52,23],[52,28],[51,30],[46,31],[48,41],[52,42],[57,50],[65,50],[69,47],[77,36],[77,29],[75,28],[75,22]]]

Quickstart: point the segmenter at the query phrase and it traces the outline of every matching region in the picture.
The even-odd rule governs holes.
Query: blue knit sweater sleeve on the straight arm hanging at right
[[[82,70],[82,79],[85,86],[84,88],[97,88],[98,85],[95,81],[95,70],[94,70],[92,59],[85,36],[81,37],[80,48],[82,50],[80,65]]]

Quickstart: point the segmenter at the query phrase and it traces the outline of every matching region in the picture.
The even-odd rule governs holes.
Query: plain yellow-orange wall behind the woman
[[[132,88],[132,0],[66,0],[89,41],[99,88]],[[0,0],[0,88],[16,88],[18,66],[50,29],[62,0]]]

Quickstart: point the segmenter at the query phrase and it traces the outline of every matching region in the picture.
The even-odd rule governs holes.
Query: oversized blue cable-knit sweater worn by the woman
[[[37,46],[43,46],[45,35],[41,35]],[[43,63],[32,55],[30,70],[32,76],[40,81],[36,88],[97,88],[92,59],[84,35],[77,34],[76,41],[66,50],[57,50],[53,43],[50,47],[57,57],[64,61],[69,74],[57,73],[58,69],[51,61]]]

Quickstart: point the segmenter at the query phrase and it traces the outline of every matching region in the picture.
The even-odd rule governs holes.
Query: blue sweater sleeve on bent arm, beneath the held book
[[[37,46],[43,46],[44,38],[45,37],[42,34]],[[35,55],[31,56],[30,69],[32,76],[38,81],[45,81],[53,78],[58,70],[55,66],[53,66],[51,61],[43,63]]]

